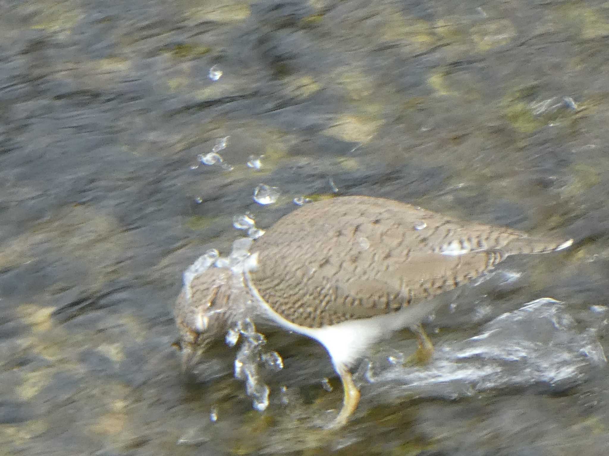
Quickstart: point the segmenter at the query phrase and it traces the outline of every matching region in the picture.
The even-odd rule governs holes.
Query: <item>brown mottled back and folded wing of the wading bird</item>
[[[350,196],[305,206],[267,230],[253,247],[259,269],[252,282],[277,313],[319,327],[396,311],[484,274],[507,255],[558,244]]]

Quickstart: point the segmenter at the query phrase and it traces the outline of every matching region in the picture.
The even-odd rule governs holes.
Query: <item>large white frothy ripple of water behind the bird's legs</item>
[[[437,347],[424,368],[377,358],[364,366],[364,378],[381,385],[378,392],[391,385],[391,394],[402,390],[423,397],[459,398],[531,385],[568,389],[607,359],[595,334],[578,332],[564,308],[554,299],[532,301],[491,320],[477,336]]]

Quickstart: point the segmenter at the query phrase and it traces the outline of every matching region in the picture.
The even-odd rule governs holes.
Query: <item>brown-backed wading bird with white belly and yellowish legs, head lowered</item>
[[[370,344],[407,327],[417,334],[420,356],[429,358],[433,346],[420,322],[434,311],[432,297],[509,255],[552,252],[571,243],[389,199],[315,202],[270,227],[241,271],[213,268],[185,284],[175,308],[181,346],[192,360],[195,348],[250,313],[317,339],[345,389],[333,423],[340,426],[359,401],[348,368]]]

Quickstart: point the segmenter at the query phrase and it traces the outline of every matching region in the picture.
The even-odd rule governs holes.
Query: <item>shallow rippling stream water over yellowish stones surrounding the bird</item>
[[[2,0],[0,36],[0,455],[606,454],[606,1]],[[446,297],[426,367],[376,345],[343,429],[295,334],[182,375],[183,272],[334,195],[576,242]]]

